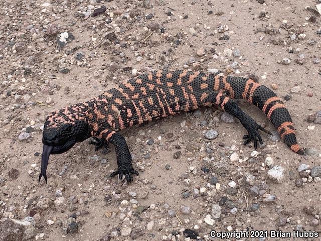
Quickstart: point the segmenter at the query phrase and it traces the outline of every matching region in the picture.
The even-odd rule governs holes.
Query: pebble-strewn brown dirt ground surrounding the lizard
[[[212,240],[211,230],[321,235],[316,4],[2,0],[0,218],[33,216],[38,240],[189,240],[187,228],[201,240]],[[64,32],[70,42],[62,47],[57,35]],[[239,122],[226,123],[230,116],[204,108],[123,132],[139,170],[129,186],[109,178],[114,150],[96,152],[88,141],[52,155],[48,184],[38,184],[49,112],[159,68],[255,74],[285,99],[308,155],[265,134],[257,153],[242,145],[246,131]],[[275,131],[256,106],[240,105]],[[218,136],[208,140],[204,134],[213,130]],[[268,174],[274,166],[284,169],[279,182]]]

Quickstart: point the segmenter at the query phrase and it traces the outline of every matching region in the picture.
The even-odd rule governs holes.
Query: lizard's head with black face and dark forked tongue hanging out
[[[79,106],[69,106],[52,112],[46,119],[42,142],[44,144],[39,182],[44,176],[47,182],[47,166],[50,154],[61,154],[77,142],[91,136],[91,128]]]

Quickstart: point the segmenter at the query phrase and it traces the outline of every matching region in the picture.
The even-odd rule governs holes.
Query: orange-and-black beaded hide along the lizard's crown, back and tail
[[[285,144],[304,154],[297,144],[291,116],[283,102],[266,86],[251,78],[177,71],[141,74],[87,102],[66,107],[48,117],[49,126],[74,124],[85,119],[91,136],[108,141],[117,131],[153,119],[217,105],[233,114],[233,99],[259,107],[270,119]],[[235,114],[234,114],[235,115]]]

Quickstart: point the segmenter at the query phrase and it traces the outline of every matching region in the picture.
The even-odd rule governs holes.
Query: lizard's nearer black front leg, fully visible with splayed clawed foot
[[[127,183],[130,184],[133,180],[132,174],[138,175],[139,173],[132,167],[131,155],[125,138],[123,138],[119,133],[114,133],[108,141],[115,147],[118,165],[117,171],[111,173],[110,177],[114,177],[118,174],[119,179],[122,180],[124,175]]]

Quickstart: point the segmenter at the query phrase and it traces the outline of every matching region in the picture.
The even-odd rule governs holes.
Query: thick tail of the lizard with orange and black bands
[[[297,144],[291,116],[280,97],[268,87],[250,78],[228,76],[225,80],[224,77],[220,80],[232,98],[244,99],[258,106],[293,152],[305,155],[304,150]]]

